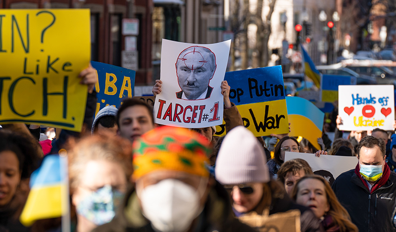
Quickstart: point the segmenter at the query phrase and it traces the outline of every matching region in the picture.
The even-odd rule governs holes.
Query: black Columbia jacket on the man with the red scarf
[[[388,181],[371,193],[355,169],[338,176],[332,186],[359,232],[396,232],[396,174],[385,168],[384,175],[390,173]]]

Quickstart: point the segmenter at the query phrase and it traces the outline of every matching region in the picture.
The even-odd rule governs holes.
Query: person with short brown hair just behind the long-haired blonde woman
[[[303,159],[286,161],[278,171],[278,181],[285,186],[286,192],[291,195],[294,184],[305,175],[312,174],[312,168]]]

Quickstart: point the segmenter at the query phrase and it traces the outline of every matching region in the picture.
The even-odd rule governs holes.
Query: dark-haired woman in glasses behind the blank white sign
[[[286,151],[291,152],[304,152],[304,149],[300,146],[297,139],[294,137],[285,136],[279,140],[278,144],[274,149],[274,158],[269,160],[267,166],[271,177],[276,179],[278,170],[281,168],[285,161]]]

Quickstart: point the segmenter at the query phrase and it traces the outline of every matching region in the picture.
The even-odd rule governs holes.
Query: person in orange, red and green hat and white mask
[[[135,188],[113,220],[94,232],[253,232],[234,218],[225,189],[210,177],[209,145],[194,131],[169,126],[136,139]]]

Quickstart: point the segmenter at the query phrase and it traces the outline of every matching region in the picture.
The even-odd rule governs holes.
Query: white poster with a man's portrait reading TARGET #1
[[[222,124],[221,82],[230,45],[231,41],[198,45],[162,40],[162,87],[155,97],[155,123],[185,128]]]

